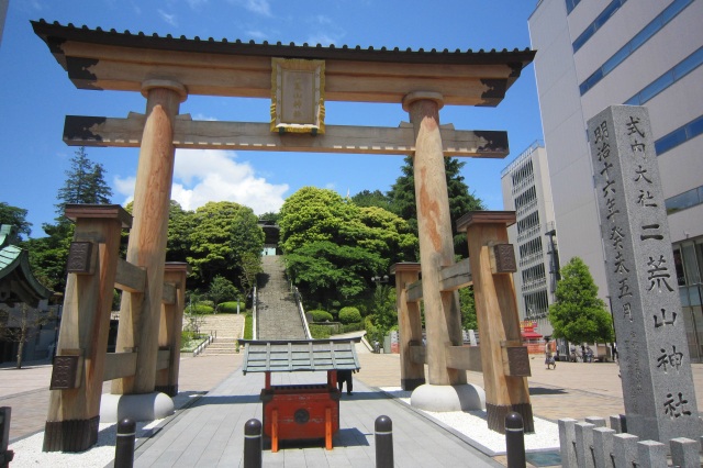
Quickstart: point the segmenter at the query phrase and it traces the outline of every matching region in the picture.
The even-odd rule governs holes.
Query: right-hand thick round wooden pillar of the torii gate
[[[415,131],[413,160],[422,293],[427,332],[427,366],[431,386],[466,383],[466,371],[447,367],[447,346],[460,346],[461,312],[456,291],[442,292],[440,268],[454,264],[449,197],[444,166],[439,109],[436,92],[413,92],[403,99]]]

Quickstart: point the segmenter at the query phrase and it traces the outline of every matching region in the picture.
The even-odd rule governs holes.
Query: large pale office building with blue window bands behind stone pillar
[[[647,107],[694,360],[703,357],[702,24],[701,0],[542,0],[529,18],[560,257],[581,257],[607,301],[587,122],[611,104]]]

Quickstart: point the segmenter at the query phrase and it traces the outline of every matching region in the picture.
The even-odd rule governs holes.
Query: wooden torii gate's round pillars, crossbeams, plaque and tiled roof
[[[444,105],[498,105],[533,60],[533,51],[231,43],[108,32],[43,20],[32,25],[77,88],[141,92],[146,98],[144,114],[130,113],[125,119],[69,115],[64,130],[68,145],[140,147],[127,261],[143,268],[147,280],[142,293],[126,294],[121,305],[118,349],[136,353],[136,372],[115,379],[113,393],[155,389],[155,343],[176,148],[414,155],[423,301],[427,334],[436,343],[428,347],[429,380],[436,386],[466,383],[466,372],[447,366],[446,345],[461,344],[461,325],[456,294],[443,292],[439,286],[442,269],[454,264],[443,159],[505,157],[507,135],[440,126],[439,110]],[[180,103],[191,94],[272,99],[271,121],[193,121],[179,114]],[[402,104],[410,124],[325,125],[325,101]],[[67,427],[58,424],[62,422],[94,421],[94,414],[71,406],[71,401],[55,401],[52,399],[47,426],[62,431],[56,428]],[[56,404],[62,406],[54,408]],[[68,432],[67,427],[66,437]]]

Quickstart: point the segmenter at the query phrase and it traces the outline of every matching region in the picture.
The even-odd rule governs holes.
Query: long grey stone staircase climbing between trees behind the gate
[[[306,339],[295,299],[288,286],[282,256],[261,257],[256,324],[258,339]]]

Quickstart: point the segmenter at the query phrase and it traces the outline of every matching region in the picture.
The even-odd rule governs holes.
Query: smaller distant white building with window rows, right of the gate
[[[517,272],[513,275],[521,320],[537,324],[536,332],[551,335],[547,319],[554,302],[559,257],[554,222],[547,153],[542,142],[533,143],[501,172],[503,207],[515,211],[516,222],[507,227],[515,246]]]

